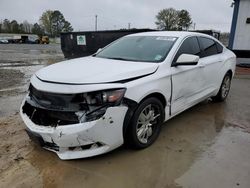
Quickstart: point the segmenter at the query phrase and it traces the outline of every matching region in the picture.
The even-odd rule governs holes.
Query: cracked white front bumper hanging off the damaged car
[[[56,127],[33,123],[23,112],[22,106],[20,114],[30,137],[38,140],[45,149],[55,152],[60,159],[103,154],[124,142],[123,121],[127,106],[109,107],[106,113],[95,121]]]

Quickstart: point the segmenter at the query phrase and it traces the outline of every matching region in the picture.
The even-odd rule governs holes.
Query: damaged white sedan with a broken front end
[[[61,159],[123,143],[142,149],[173,116],[209,97],[225,100],[235,64],[234,53],[208,35],[128,35],[36,72],[20,114],[29,136]]]

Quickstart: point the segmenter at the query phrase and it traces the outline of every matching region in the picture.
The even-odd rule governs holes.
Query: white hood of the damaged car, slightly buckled
[[[83,57],[45,67],[36,76],[46,82],[94,84],[125,81],[155,72],[157,63]]]

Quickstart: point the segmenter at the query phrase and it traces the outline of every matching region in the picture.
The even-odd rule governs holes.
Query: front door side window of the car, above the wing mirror
[[[181,54],[191,54],[200,56],[200,46],[196,37],[189,37],[185,39],[179,48],[177,54],[175,55],[174,62],[177,61]]]

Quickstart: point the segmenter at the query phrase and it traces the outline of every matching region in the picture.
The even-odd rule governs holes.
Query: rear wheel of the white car
[[[230,91],[230,87],[231,87],[231,74],[226,73],[226,75],[222,80],[219,92],[217,93],[216,96],[212,97],[212,100],[215,102],[222,102],[226,100],[228,93]]]

